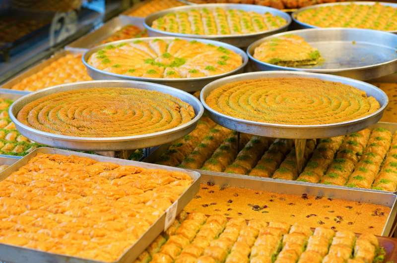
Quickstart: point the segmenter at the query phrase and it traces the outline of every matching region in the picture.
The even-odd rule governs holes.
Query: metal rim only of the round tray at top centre
[[[282,17],[283,19],[285,19],[287,21],[287,23],[279,28],[275,28],[275,29],[271,29],[271,30],[255,32],[255,33],[246,33],[246,34],[235,34],[235,35],[232,35],[232,34],[229,34],[229,35],[196,35],[196,34],[173,33],[173,32],[167,32],[167,31],[154,29],[151,27],[151,25],[149,25],[150,20],[153,20],[157,16],[166,15],[169,12],[179,11],[179,10],[183,10],[183,9],[195,9],[195,8],[205,8],[205,7],[230,7],[233,9],[238,9],[239,7],[246,7],[246,8],[251,8],[252,11],[257,11],[257,12],[260,12],[257,9],[262,9],[265,12],[270,12],[273,15],[276,14],[277,16]],[[280,9],[276,9],[276,8],[272,8],[272,7],[268,7],[268,6],[255,5],[255,4],[243,4],[243,3],[202,3],[202,4],[187,4],[187,5],[172,7],[172,8],[168,8],[165,10],[161,10],[161,11],[152,13],[145,17],[143,26],[148,31],[155,32],[157,34],[174,36],[174,37],[190,37],[190,38],[202,38],[202,39],[230,39],[230,38],[236,38],[236,37],[244,38],[244,37],[260,36],[261,34],[271,34],[272,32],[277,32],[278,30],[287,29],[291,23],[292,23],[292,18],[288,13],[281,11]]]

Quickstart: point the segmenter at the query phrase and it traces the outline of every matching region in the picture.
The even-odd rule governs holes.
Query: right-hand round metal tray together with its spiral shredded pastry
[[[354,79],[309,72],[262,71],[206,85],[201,102],[218,124],[281,138],[323,138],[377,123],[387,104],[379,88]]]

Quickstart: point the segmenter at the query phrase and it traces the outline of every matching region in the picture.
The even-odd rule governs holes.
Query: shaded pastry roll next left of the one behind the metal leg
[[[275,139],[249,175],[271,177],[285,155],[291,150],[292,145],[291,139]]]

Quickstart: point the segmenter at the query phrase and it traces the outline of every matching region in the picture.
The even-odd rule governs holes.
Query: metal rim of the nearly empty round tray
[[[247,48],[247,55],[250,58],[251,61],[253,61],[256,64],[259,64],[261,66],[267,66],[267,67],[272,67],[277,70],[294,70],[294,71],[303,71],[303,72],[313,72],[313,73],[337,73],[337,72],[346,72],[350,70],[363,70],[363,69],[371,69],[379,66],[386,66],[389,64],[393,64],[397,62],[397,58],[394,60],[390,60],[387,62],[383,63],[378,63],[370,66],[356,66],[356,67],[347,67],[347,68],[330,68],[330,69],[323,69],[323,68],[302,68],[302,67],[288,67],[288,66],[278,66],[278,65],[273,65],[269,64],[260,60],[257,60],[254,58],[254,49],[258,47],[260,44],[262,44],[265,40],[275,38],[275,37],[280,37],[280,36],[285,36],[288,34],[295,34],[295,33],[300,33],[300,32],[316,32],[316,31],[361,31],[362,33],[367,32],[372,32],[372,33],[379,33],[379,34],[386,34],[389,36],[396,37],[396,34],[387,32],[387,31],[380,31],[380,30],[372,30],[372,29],[362,29],[362,28],[348,28],[348,27],[316,27],[316,28],[305,28],[305,29],[299,29],[299,30],[293,30],[293,31],[287,31],[287,32],[281,32],[277,33],[271,36],[267,36],[264,38],[261,38],[255,42],[253,42],[248,48]],[[396,49],[397,51],[397,49]]]

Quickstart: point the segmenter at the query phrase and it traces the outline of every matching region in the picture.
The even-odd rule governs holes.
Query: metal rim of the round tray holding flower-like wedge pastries
[[[88,59],[89,57],[91,57],[91,55],[100,50],[103,49],[106,46],[109,45],[116,45],[116,44],[122,44],[122,43],[130,43],[130,42],[134,42],[134,41],[150,41],[150,40],[154,40],[154,39],[163,39],[163,40],[173,40],[176,39],[177,37],[143,37],[143,38],[132,38],[132,39],[125,39],[125,40],[118,40],[118,41],[114,41],[114,42],[109,42],[106,44],[102,44],[99,46],[96,46],[94,48],[91,48],[89,50],[87,50],[83,56],[81,57],[84,66],[87,68],[87,70],[93,70],[97,73],[100,73],[102,75],[106,75],[106,76],[111,76],[111,77],[117,77],[120,79],[128,79],[128,80],[140,80],[140,81],[158,81],[158,82],[188,82],[188,81],[205,81],[205,80],[211,80],[211,79],[216,79],[216,78],[221,78],[224,76],[228,76],[228,75],[232,75],[236,72],[238,72],[239,70],[242,70],[247,64],[248,64],[248,56],[247,54],[241,50],[238,47],[232,46],[230,44],[227,43],[223,43],[223,42],[219,42],[216,40],[209,40],[209,39],[199,39],[199,38],[187,38],[187,37],[180,37],[178,39],[183,39],[183,40],[187,40],[187,41],[198,41],[201,43],[205,43],[205,44],[212,44],[218,47],[224,47],[227,48],[231,51],[233,51],[234,53],[238,54],[241,56],[242,59],[242,64],[240,66],[238,66],[237,68],[222,73],[222,74],[218,74],[218,75],[212,75],[212,76],[205,76],[205,77],[191,77],[191,78],[154,78],[154,77],[135,77],[135,76],[128,76],[128,75],[123,75],[123,74],[117,74],[117,73],[112,73],[112,72],[108,72],[105,70],[101,70],[98,69],[94,66],[91,66],[88,64]]]

